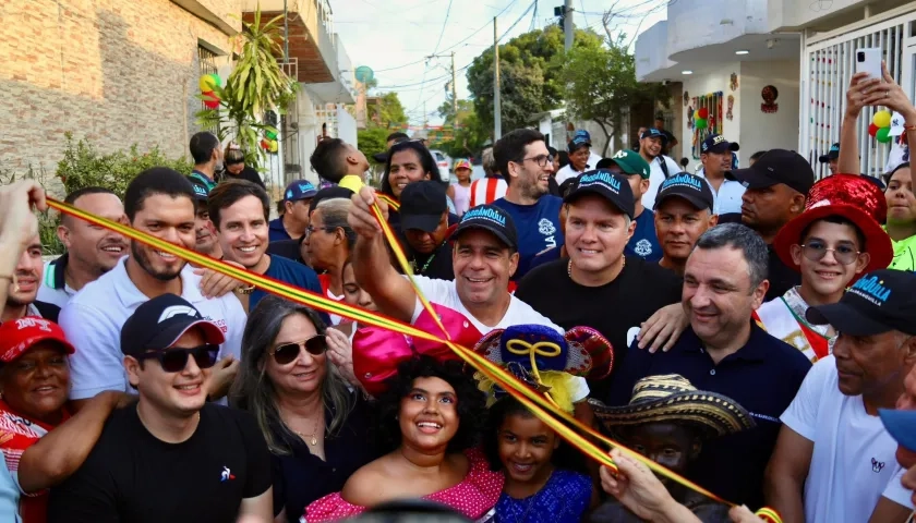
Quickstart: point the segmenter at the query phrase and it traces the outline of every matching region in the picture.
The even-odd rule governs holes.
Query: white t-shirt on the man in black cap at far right
[[[900,484],[905,471],[894,457],[896,441],[880,417],[866,413],[861,397],[844,396],[839,382],[834,356],[818,361],[781,417],[815,443],[805,520],[863,523],[882,496],[913,509],[913,492]]]

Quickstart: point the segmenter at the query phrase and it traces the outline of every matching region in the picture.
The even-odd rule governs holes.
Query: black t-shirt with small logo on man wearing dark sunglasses
[[[83,466],[51,489],[48,522],[230,523],[272,482],[250,414],[208,403],[191,438],[166,443],[131,406],[111,414]]]

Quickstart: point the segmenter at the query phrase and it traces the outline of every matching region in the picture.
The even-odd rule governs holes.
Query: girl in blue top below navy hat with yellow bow
[[[539,325],[497,329],[485,336],[475,350],[532,389],[546,392],[570,414],[572,379],[606,375],[613,363],[610,343],[586,328],[571,329],[565,337]],[[583,469],[581,455],[493,381],[481,375],[475,377],[491,405],[484,452],[491,469],[503,471],[506,477],[495,521],[581,521],[598,503],[591,478],[570,470],[576,465]]]

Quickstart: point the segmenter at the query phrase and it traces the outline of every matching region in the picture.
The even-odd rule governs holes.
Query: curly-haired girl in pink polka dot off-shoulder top
[[[402,363],[378,398],[379,436],[394,449],[358,470],[343,490],[305,508],[306,523],[338,521],[379,503],[422,498],[472,520],[492,514],[503,474],[472,448],[484,397],[460,362],[419,356]]]

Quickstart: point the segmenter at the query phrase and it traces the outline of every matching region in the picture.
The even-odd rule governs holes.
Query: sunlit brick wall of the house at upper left
[[[228,14],[241,0],[201,4],[239,27]],[[169,0],[7,0],[0,26],[0,169],[14,171],[53,173],[65,132],[103,151],[136,143],[185,155],[198,39],[231,45]]]

